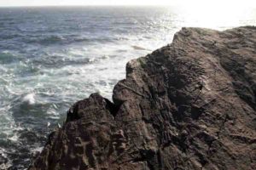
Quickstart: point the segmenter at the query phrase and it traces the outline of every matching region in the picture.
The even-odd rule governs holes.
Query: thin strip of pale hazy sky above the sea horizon
[[[46,5],[182,5],[256,7],[256,0],[0,0],[0,6]]]

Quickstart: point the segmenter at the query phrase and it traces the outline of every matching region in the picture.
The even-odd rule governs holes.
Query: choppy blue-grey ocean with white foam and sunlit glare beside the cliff
[[[0,169],[26,169],[74,102],[95,92],[111,99],[125,64],[183,26],[256,25],[253,8],[211,10],[0,8]]]

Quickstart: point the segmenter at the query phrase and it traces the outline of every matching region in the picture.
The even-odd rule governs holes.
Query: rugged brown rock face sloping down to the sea
[[[256,168],[256,27],[183,28],[126,72],[113,103],[73,105],[30,170]]]

